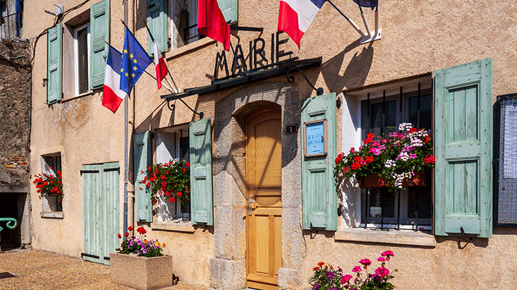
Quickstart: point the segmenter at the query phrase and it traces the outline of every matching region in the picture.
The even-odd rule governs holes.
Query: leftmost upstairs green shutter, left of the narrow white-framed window
[[[63,94],[63,24],[49,29],[47,35],[47,103],[61,101]]]

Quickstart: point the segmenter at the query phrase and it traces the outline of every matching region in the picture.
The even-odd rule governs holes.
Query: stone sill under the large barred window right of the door
[[[411,245],[436,247],[436,239],[432,234],[414,232],[413,230],[376,230],[354,228],[340,230],[334,235],[336,241],[359,241],[364,243],[381,243],[395,245]]]

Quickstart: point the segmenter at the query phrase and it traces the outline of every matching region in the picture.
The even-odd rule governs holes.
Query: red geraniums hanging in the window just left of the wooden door
[[[190,200],[190,163],[174,159],[165,164],[154,164],[147,167],[144,182],[151,189],[153,203],[156,203],[156,196],[163,194],[170,203],[179,201],[183,205]]]

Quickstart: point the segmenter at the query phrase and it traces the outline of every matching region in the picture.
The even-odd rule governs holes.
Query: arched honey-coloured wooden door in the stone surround
[[[282,210],[279,108],[268,108],[247,120],[246,178],[247,201],[256,201],[250,203],[251,215],[247,212],[247,287],[278,289]]]

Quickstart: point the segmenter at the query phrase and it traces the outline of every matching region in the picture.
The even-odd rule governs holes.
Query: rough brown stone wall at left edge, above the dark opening
[[[26,41],[0,42],[0,186],[26,186],[29,180],[29,54]]]

